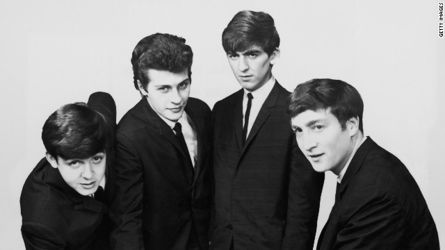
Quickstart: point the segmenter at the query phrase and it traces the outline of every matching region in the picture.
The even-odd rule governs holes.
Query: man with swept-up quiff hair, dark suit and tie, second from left
[[[211,110],[189,98],[193,52],[149,35],[131,63],[142,99],[116,133],[113,249],[208,249]]]

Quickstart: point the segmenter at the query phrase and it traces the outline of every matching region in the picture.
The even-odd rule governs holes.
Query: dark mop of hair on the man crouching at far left
[[[109,149],[104,117],[85,103],[66,104],[52,113],[42,128],[42,141],[54,158],[88,158]]]

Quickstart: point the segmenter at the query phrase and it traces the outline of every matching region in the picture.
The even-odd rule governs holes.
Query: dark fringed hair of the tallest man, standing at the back
[[[273,18],[266,12],[242,10],[234,16],[223,31],[223,48],[226,53],[245,51],[252,46],[261,47],[270,56],[280,47],[280,35]]]

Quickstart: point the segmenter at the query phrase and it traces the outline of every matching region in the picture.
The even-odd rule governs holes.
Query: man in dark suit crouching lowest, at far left
[[[109,249],[103,187],[115,121],[114,100],[103,92],[92,94],[88,106],[67,104],[49,116],[42,129],[46,157],[20,197],[26,249]]]

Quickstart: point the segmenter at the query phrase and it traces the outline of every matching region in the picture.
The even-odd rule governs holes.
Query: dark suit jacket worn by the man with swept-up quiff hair
[[[111,205],[113,249],[186,249],[193,225],[201,248],[209,248],[211,110],[194,98],[185,110],[197,133],[194,174],[188,152],[147,99],[120,120]]]

